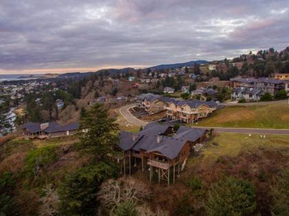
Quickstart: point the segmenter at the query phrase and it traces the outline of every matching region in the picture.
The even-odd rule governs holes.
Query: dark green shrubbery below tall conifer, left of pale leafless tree
[[[67,175],[59,188],[60,208],[63,215],[96,215],[96,194],[105,180],[116,177],[118,167],[115,164],[99,162],[85,166],[76,173]]]

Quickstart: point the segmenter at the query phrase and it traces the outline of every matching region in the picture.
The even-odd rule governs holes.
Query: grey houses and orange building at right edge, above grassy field
[[[285,89],[289,94],[289,74],[276,74],[275,78],[231,78],[232,100],[258,101],[266,92],[274,96]]]

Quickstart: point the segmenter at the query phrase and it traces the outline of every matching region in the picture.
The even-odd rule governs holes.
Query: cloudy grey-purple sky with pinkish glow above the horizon
[[[288,45],[288,0],[0,1],[0,74],[147,67]]]

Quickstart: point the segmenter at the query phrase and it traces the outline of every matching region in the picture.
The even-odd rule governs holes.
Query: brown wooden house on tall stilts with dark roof
[[[138,133],[121,131],[118,147],[123,156],[119,162],[124,175],[127,169],[131,173],[133,165],[140,167],[142,172],[149,171],[150,181],[156,175],[158,182],[169,185],[172,179],[174,183],[175,174],[180,175],[195,145],[204,141],[207,132],[184,126],[173,131],[173,127],[167,125],[148,126]]]

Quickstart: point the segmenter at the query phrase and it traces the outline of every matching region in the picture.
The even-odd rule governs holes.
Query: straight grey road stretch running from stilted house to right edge
[[[232,128],[232,127],[198,127],[211,129],[213,128],[217,132],[228,133],[258,133],[258,134],[285,134],[289,135],[289,129],[255,129],[255,128]]]

